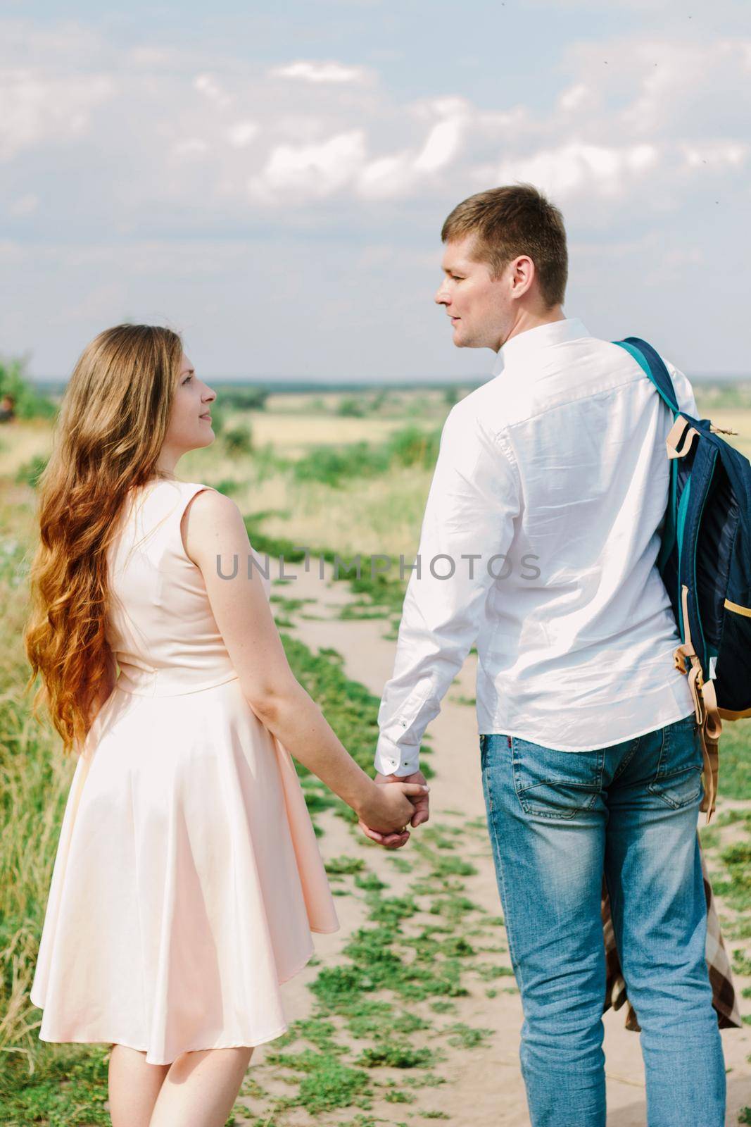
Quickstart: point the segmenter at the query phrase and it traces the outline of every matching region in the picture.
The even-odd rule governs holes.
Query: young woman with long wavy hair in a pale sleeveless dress
[[[175,477],[215,398],[175,332],[108,329],[39,482],[27,689],[78,762],[30,999],[41,1039],[113,1044],[114,1127],[223,1127],[287,1028],[279,983],[338,928],[290,755],[392,844],[427,789],[357,766],[292,674],[238,506]]]

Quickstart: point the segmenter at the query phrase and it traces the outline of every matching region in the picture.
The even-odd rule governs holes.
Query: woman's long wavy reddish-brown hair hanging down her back
[[[68,382],[38,481],[39,544],[24,629],[32,712],[46,706],[63,754],[86,739],[109,683],[107,548],[128,490],[154,478],[182,361],[177,332],[117,325],[83,349]]]

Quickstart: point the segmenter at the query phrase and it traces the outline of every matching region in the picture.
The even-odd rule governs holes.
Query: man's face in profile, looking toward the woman
[[[452,319],[457,348],[493,348],[507,339],[516,310],[510,296],[509,272],[491,278],[490,266],[471,257],[475,237],[467,234],[446,243],[441,268],[444,281],[436,302],[444,305]]]

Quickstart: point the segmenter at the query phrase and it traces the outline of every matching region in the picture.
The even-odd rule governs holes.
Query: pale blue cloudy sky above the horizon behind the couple
[[[206,379],[457,379],[459,199],[561,206],[564,311],[748,375],[751,30],[736,0],[0,9],[0,352],[65,376],[169,323]]]

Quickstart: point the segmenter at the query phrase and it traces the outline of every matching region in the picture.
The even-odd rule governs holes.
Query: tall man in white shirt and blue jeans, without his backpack
[[[476,641],[483,788],[531,1124],[605,1127],[605,870],[642,1027],[647,1121],[721,1127],[701,746],[655,566],[671,412],[632,356],[563,313],[565,230],[536,188],[471,196],[442,240],[436,302],[454,344],[492,348],[498,363],[442,431],[378,712],[379,780],[422,781],[422,734]],[[668,367],[696,416],[690,383]],[[467,770],[459,755],[442,769]],[[415,806],[413,826],[428,818],[427,799]]]

